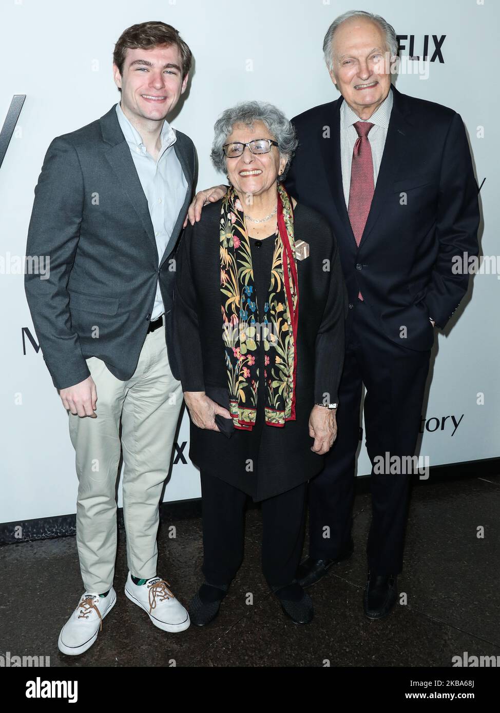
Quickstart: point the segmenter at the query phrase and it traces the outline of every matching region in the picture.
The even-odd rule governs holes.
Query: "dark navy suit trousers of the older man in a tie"
[[[327,453],[325,469],[310,482],[310,555],[315,559],[335,559],[350,543],[362,384],[366,445],[373,466],[374,458],[385,453],[399,458],[414,455],[429,371],[430,351],[414,352],[385,337],[359,299],[346,331],[337,441]],[[368,566],[377,574],[398,574],[411,476],[374,471],[372,467]]]

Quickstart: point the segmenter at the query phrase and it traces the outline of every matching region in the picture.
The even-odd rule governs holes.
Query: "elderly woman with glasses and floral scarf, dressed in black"
[[[336,436],[345,287],[327,223],[280,183],[295,146],[274,106],[225,111],[211,156],[231,185],[178,252],[175,343],[203,496],[198,625],[218,614],[243,559],[247,496],[262,503],[268,585],[292,620],[312,619],[295,573],[307,481]]]

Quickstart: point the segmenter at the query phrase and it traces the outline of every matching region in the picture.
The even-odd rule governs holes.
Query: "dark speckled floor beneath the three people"
[[[260,511],[247,515],[245,561],[218,618],[205,629],[162,632],[126,599],[125,534],[119,535],[118,602],[96,643],[80,657],[58,652],[61,626],[82,584],[75,538],[0,550],[0,654],[49,656],[51,667],[87,666],[451,666],[451,657],[500,656],[500,476],[414,488],[404,572],[407,604],[369,622],[362,611],[369,495],[354,505],[354,555],[309,592],[315,618],[282,615],[260,570]],[[169,537],[175,525],[175,538]],[[484,538],[478,538],[478,528]],[[199,518],[163,523],[159,571],[187,605],[200,579]],[[305,544],[307,548],[307,543]],[[251,602],[251,603],[250,603]]]

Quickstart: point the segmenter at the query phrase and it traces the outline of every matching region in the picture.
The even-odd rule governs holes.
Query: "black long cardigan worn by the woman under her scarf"
[[[188,223],[180,241],[173,336],[183,391],[205,391],[228,409],[220,309],[220,207],[219,200],[203,208],[200,222]],[[309,257],[297,260],[296,420],[282,428],[266,426],[262,403],[257,403],[252,431],[235,429],[228,438],[199,429],[192,421],[190,425],[193,463],[256,501],[290,490],[322,470],[323,456],[310,450],[314,439],[309,435],[309,416],[325,394],[330,402],[338,400],[342,374],[347,297],[335,238],[319,213],[298,204],[295,240],[310,245]]]

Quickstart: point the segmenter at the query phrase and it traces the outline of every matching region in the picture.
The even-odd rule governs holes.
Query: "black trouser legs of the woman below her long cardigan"
[[[203,575],[229,585],[243,560],[247,494],[201,471]],[[303,543],[307,483],[263,500],[262,571],[273,590],[295,579]]]

